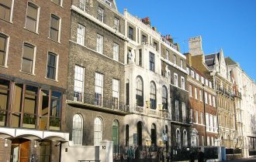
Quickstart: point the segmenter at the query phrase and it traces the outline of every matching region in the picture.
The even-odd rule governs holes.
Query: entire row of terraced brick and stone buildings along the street
[[[254,80],[201,36],[182,54],[115,0],[0,0],[0,162],[99,160],[102,141],[248,157],[255,112]]]

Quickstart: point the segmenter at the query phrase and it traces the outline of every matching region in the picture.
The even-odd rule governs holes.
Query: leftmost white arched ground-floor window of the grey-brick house
[[[83,120],[81,115],[75,114],[73,117],[72,141],[74,144],[81,145],[83,139]]]

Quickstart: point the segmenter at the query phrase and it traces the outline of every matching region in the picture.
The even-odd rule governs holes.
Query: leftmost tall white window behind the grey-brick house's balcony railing
[[[81,87],[79,87],[79,85]],[[75,101],[80,101],[80,102],[84,101],[84,89],[85,89],[85,68],[82,66],[75,65],[74,66],[74,100]],[[75,96],[75,93],[81,93],[81,94],[78,94],[78,96]]]

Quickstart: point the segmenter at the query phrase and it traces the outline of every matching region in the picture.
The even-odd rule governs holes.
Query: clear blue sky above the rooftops
[[[188,39],[202,35],[206,54],[223,49],[256,79],[255,0],[116,0],[119,12],[150,17],[161,35],[171,35],[188,52]]]

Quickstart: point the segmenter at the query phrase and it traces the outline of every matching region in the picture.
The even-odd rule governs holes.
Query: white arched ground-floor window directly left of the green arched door
[[[102,119],[96,117],[94,120],[94,145],[99,145],[99,141],[102,140]]]

